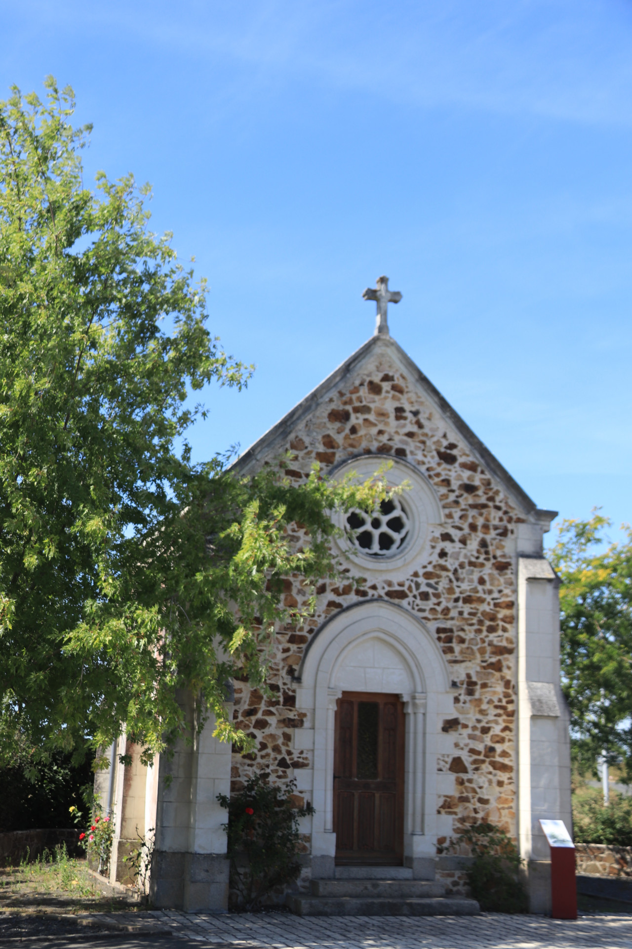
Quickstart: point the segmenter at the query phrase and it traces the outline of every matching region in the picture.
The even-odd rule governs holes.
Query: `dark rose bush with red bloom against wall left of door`
[[[277,886],[294,883],[300,873],[298,818],[314,813],[308,802],[298,804],[296,783],[284,788],[268,784],[264,776],[249,778],[244,791],[218,794],[228,811],[230,886],[237,894],[235,908],[250,911]]]

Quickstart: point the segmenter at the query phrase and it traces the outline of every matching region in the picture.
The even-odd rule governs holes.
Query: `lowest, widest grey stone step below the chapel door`
[[[297,916],[475,916],[480,912],[476,900],[464,897],[391,900],[288,894],[286,903]]]

